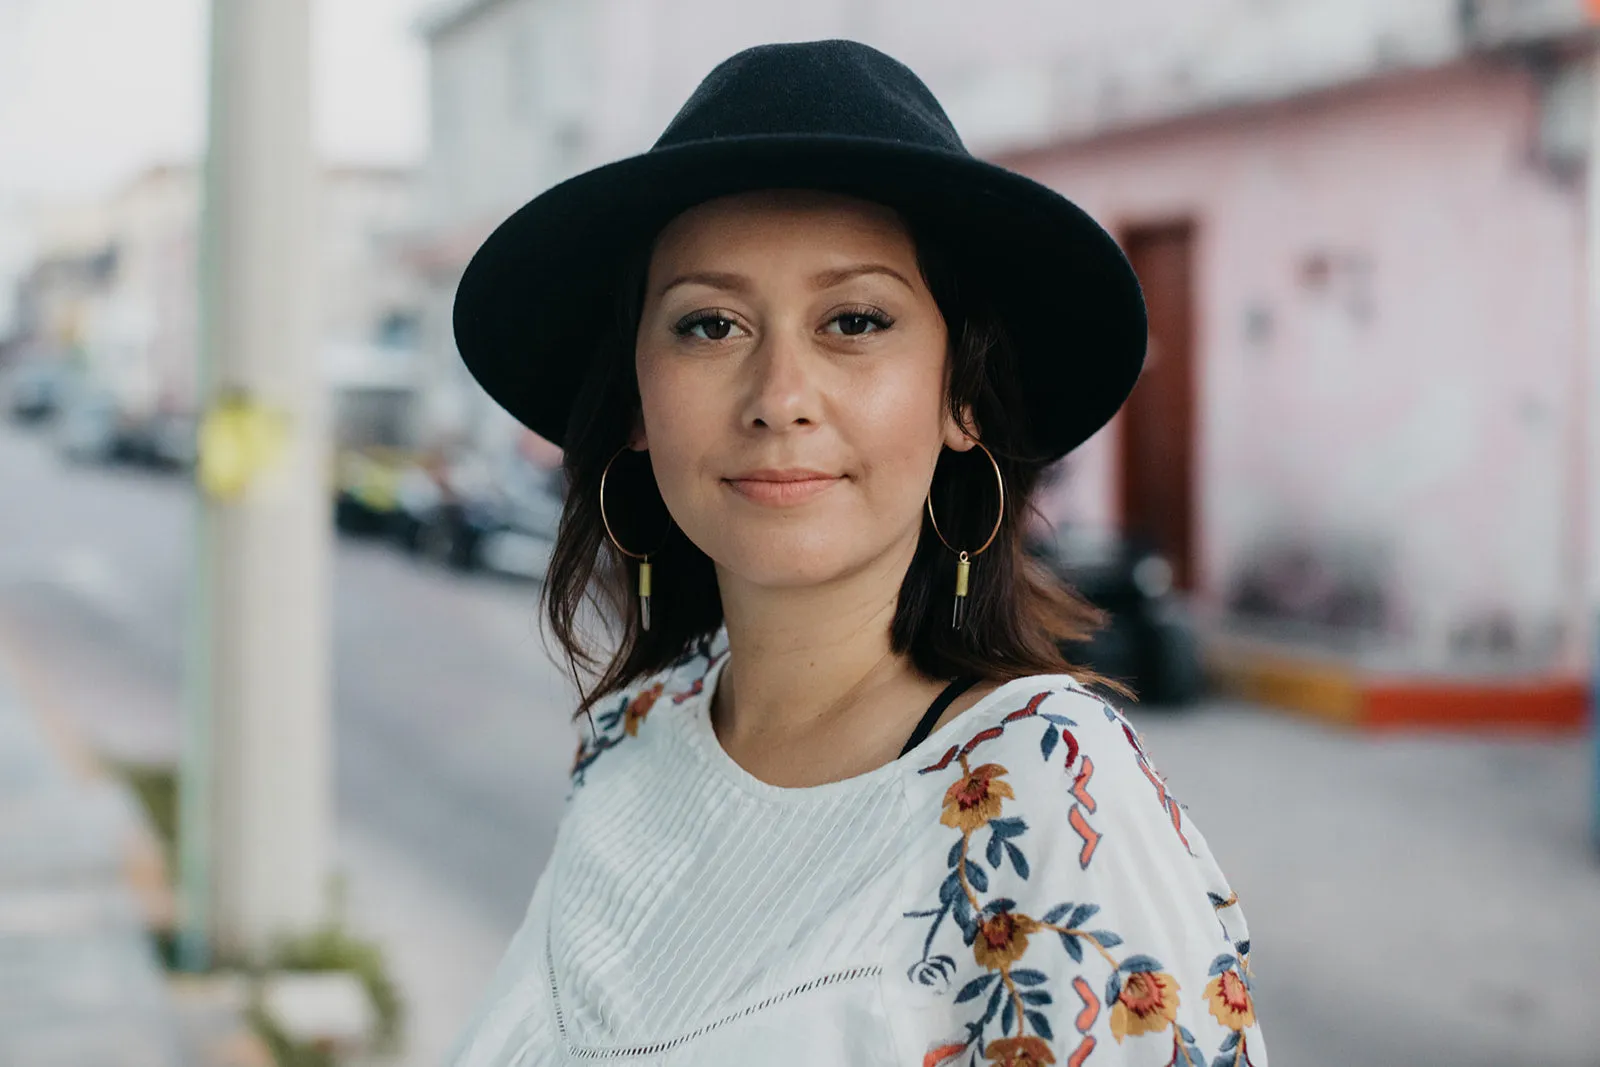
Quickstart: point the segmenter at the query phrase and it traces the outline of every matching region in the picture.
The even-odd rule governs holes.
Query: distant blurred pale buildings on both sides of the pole
[[[59,210],[35,234],[18,294],[16,347],[66,358],[125,419],[192,416],[198,376],[200,174],[152,166],[104,202]],[[414,435],[411,374],[421,280],[402,237],[414,222],[416,174],[334,166],[320,198],[323,344],[328,378],[363,395],[352,416],[387,443]],[[370,403],[371,394],[379,403]],[[371,429],[371,427],[368,427]],[[357,429],[357,437],[368,435]]]

